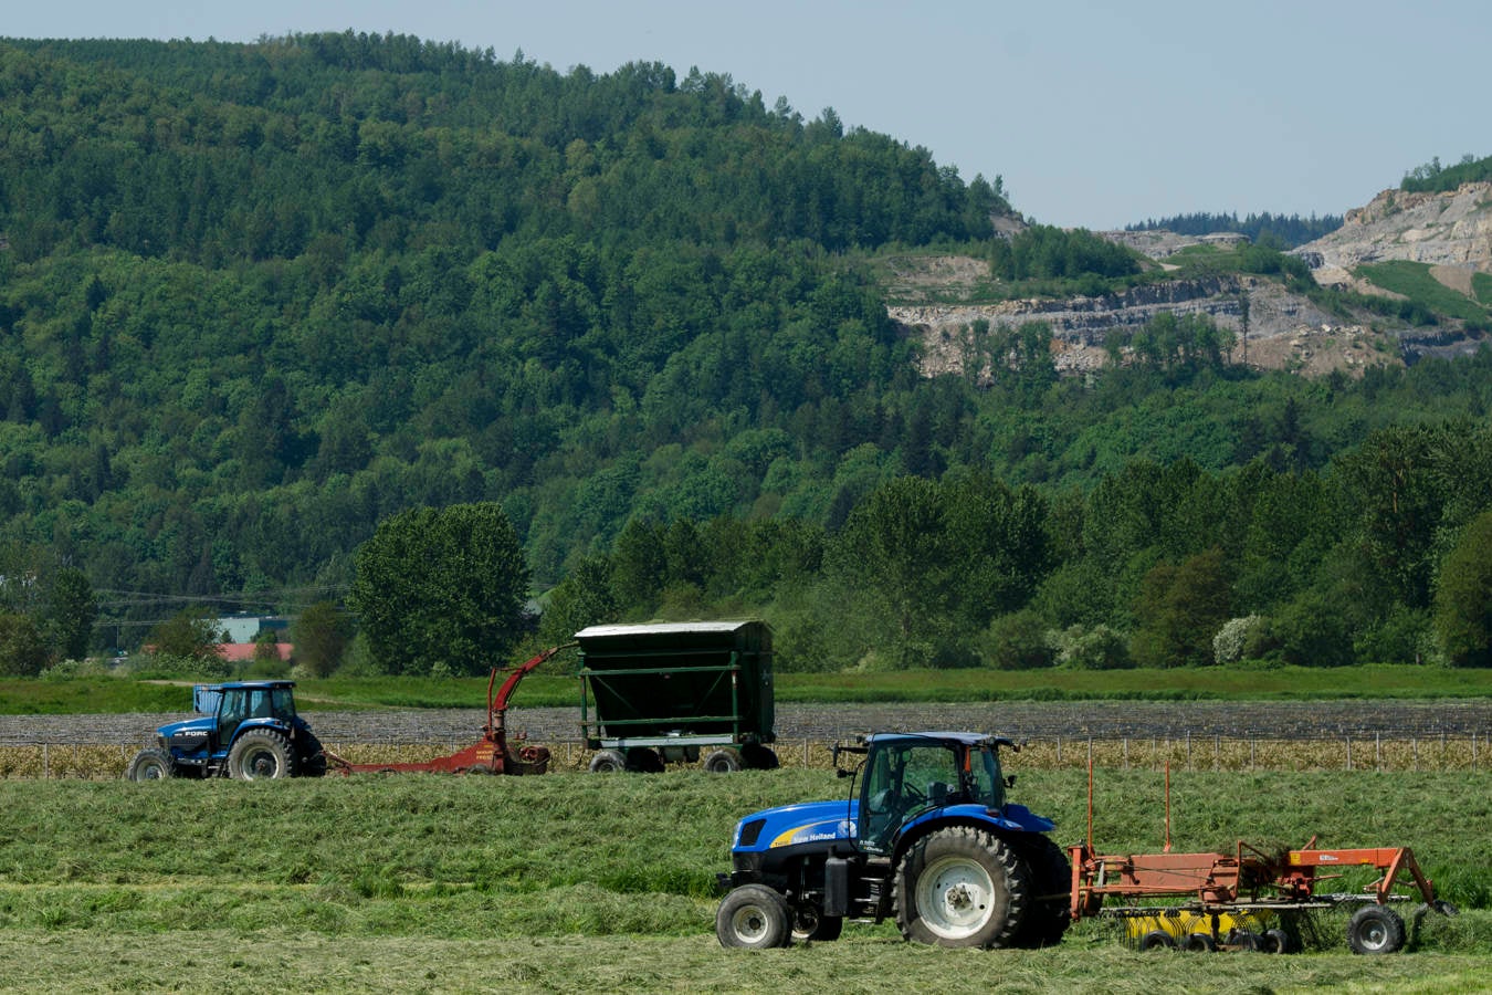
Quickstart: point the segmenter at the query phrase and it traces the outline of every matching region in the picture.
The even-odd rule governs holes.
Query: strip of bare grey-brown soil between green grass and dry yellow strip
[[[167,715],[0,716],[0,746],[139,744]],[[466,743],[482,732],[480,709],[307,712],[328,743]],[[509,729],[534,741],[579,738],[576,709],[513,709]],[[873,729],[982,729],[1018,740],[1183,735],[1319,740],[1341,735],[1471,735],[1492,732],[1492,701],[1188,701],[989,704],[779,704],[782,740],[834,740]]]

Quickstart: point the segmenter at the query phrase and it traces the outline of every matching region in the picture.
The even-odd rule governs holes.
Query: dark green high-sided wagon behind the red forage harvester
[[[761,621],[592,625],[580,647],[580,732],[592,771],[773,768],[771,628]]]

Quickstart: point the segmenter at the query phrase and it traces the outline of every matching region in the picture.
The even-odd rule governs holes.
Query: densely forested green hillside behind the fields
[[[833,110],[348,33],[0,42],[0,122],[6,659],[76,646],[79,579],[91,646],[294,612],[379,521],[498,501],[557,633],[761,613],[789,667],[1122,665],[1258,616],[1234,658],[1486,662],[1434,622],[1446,564],[1479,582],[1492,360],[1306,382],[1171,322],[1059,379],[1032,325],[924,377],[867,261],[998,280],[1010,204]]]

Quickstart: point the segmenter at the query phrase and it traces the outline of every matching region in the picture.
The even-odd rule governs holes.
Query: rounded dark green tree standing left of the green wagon
[[[476,674],[522,634],[528,565],[492,501],[416,507],[357,550],[348,606],[391,673]]]

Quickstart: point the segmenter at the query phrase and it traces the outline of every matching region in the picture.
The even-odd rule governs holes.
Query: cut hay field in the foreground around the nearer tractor
[[[1083,834],[1079,771],[1016,798]],[[1356,958],[1141,955],[1107,923],[1058,949],[915,947],[889,923],[839,943],[727,952],[713,876],[736,819],[843,797],[821,770],[294,782],[0,782],[0,964],[22,991],[1474,991],[1492,976],[1489,774],[1173,777],[1177,847],[1407,844],[1465,910],[1410,950]],[[1155,774],[1104,771],[1095,838],[1162,840]],[[1352,882],[1353,886],[1361,882]],[[1338,916],[1340,919],[1340,916]]]

